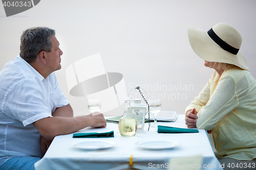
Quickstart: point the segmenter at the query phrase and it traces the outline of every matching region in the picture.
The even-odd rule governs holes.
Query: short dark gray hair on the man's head
[[[41,51],[50,53],[52,48],[50,37],[52,35],[55,35],[55,30],[47,27],[34,27],[25,30],[20,37],[19,56],[28,63],[32,63]]]

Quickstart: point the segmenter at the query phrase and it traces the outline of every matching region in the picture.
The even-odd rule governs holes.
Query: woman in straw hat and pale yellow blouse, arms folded
[[[223,22],[208,32],[193,27],[187,32],[194,52],[215,69],[186,108],[187,127],[212,132],[225,169],[256,169],[256,81],[239,51],[240,33]]]

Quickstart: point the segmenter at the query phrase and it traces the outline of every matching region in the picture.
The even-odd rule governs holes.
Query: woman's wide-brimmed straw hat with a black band
[[[227,23],[217,23],[208,32],[187,26],[187,33],[191,47],[203,60],[234,64],[249,70],[245,57],[239,52],[242,37]]]

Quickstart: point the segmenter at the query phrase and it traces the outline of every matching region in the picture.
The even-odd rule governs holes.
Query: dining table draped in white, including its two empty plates
[[[187,129],[183,114],[179,114],[175,122],[157,124]],[[148,131],[148,123],[145,123],[142,133],[123,137],[118,124],[108,122],[105,128],[87,127],[73,134],[113,131],[112,137],[59,135],[44,157],[35,163],[35,169],[222,169],[205,130],[198,129],[198,133],[158,133],[157,130],[157,127],[150,127]],[[161,144],[166,141],[174,145]],[[76,143],[99,143],[102,147],[83,148]]]

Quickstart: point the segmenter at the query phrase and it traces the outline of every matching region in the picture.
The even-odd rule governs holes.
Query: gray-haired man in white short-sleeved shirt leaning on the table
[[[73,117],[54,71],[62,51],[49,28],[31,28],[0,72],[0,169],[34,169],[57,135],[106,127],[101,113]]]

